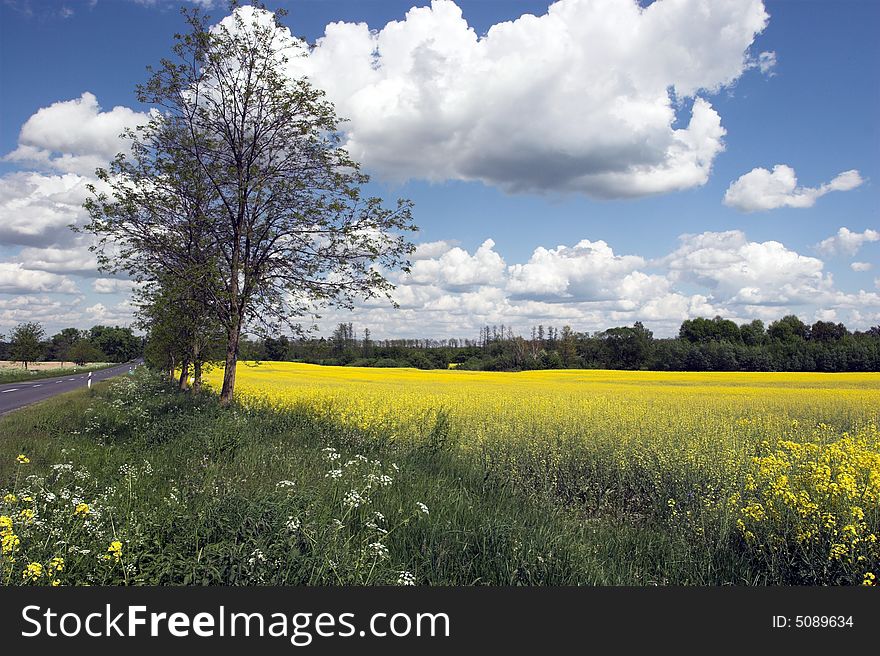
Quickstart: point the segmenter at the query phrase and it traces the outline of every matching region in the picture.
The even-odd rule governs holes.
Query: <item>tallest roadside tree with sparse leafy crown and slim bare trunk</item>
[[[322,306],[390,298],[382,271],[408,268],[413,246],[403,233],[414,226],[409,201],[388,209],[363,196],[368,177],[342,147],[332,104],[289,73],[289,57],[307,44],[261,8],[236,8],[214,27],[198,10],[186,16],[190,31],[177,38],[174,60],[138,89],[141,102],[160,109],[131,135],[147,174],[135,180],[139,193],[130,193],[118,157],[101,176],[111,193],[89,205],[90,229],[129,262],[152,265],[169,235],[185,231],[179,224],[204,221],[203,248],[221,281],[214,307],[226,331],[221,401],[229,403],[245,327],[296,330]],[[172,212],[169,228],[149,195],[176,186],[170,197],[193,200],[170,175],[175,166],[201,193],[183,203],[197,211]]]

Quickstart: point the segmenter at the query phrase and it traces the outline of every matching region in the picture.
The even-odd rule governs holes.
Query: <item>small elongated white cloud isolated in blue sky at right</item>
[[[831,191],[849,191],[864,182],[856,170],[844,171],[818,187],[799,187],[794,169],[777,164],[772,171],[755,168],[734,180],[724,194],[724,204],[741,212],[779,207],[812,207]]]

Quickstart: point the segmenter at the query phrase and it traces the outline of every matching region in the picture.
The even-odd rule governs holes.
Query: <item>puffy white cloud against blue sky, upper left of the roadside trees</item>
[[[92,175],[126,150],[120,135],[149,120],[128,107],[102,112],[98,99],[85,92],[74,100],[43,107],[21,127],[18,148],[6,155],[12,162],[63,173]]]

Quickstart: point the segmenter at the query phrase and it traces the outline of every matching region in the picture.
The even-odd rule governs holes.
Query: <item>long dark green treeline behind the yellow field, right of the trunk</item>
[[[247,341],[255,360],[323,365],[417,367],[481,371],[529,369],[649,369],[658,371],[880,371],[880,326],[850,331],[842,323],[808,325],[789,315],[762,321],[688,319],[678,337],[654,338],[640,322],[596,333],[535,326],[530,335],[486,326],[475,340],[373,340],[339,324],[330,338],[286,336]]]

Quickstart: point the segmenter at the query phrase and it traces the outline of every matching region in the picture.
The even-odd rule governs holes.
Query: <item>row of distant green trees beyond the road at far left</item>
[[[46,337],[36,322],[20,323],[9,333],[9,341],[0,335],[0,360],[20,362],[25,369],[38,361],[128,362],[143,352],[143,339],[131,328],[92,326],[89,330],[65,328]]]

